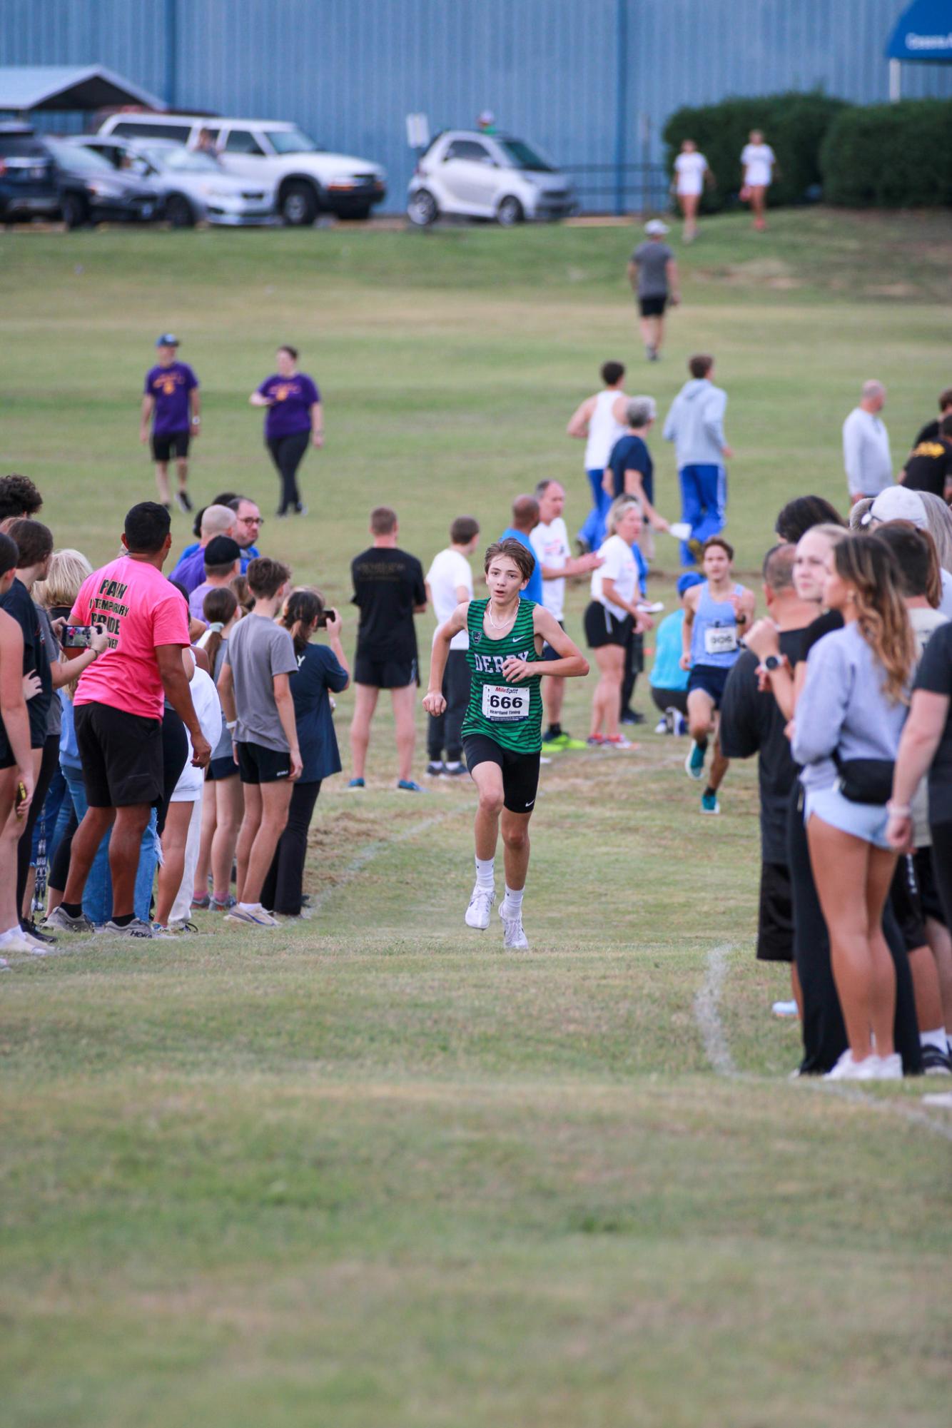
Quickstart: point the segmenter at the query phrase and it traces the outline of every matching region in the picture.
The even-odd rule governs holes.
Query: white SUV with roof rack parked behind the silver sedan
[[[208,130],[231,174],[268,187],[284,223],[314,223],[318,213],[367,218],[387,194],[380,164],[333,154],[297,124],[270,119],[208,119],[201,114],[110,114],[97,137],[173,139],[194,149]]]

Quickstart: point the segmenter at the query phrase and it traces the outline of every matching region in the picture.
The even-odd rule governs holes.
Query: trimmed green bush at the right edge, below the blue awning
[[[952,204],[951,140],[948,99],[848,109],[821,147],[824,198],[851,208]]]

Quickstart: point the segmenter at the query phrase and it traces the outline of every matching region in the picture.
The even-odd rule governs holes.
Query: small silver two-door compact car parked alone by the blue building
[[[450,129],[430,144],[410,180],[407,217],[420,227],[440,214],[495,218],[565,218],[577,208],[567,176],[512,134]]]

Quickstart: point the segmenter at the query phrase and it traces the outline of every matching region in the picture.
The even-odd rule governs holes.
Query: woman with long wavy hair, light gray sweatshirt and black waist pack
[[[895,1080],[896,974],[882,912],[896,864],[886,801],[908,713],[915,641],[899,570],[876,536],[846,536],[826,557],[824,604],[844,628],[806,661],[792,753],[849,1048],[831,1080]]]

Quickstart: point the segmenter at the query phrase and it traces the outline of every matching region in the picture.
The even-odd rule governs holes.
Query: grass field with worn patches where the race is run
[[[37,481],[57,544],[107,558],[151,494],[137,404],[173,328],[204,391],[196,494],[271,516],[247,394],[295,341],[328,443],[311,514],[263,545],[345,603],[381,500],[424,560],[462,511],[495,536],[542,474],[574,528],[562,433],[599,363],[628,360],[664,411],[711,350],[752,578],[784,500],[841,501],[865,377],[889,387],[896,458],[949,384],[948,224],[712,221],[658,367],[629,246],[612,227],[0,236],[0,468]],[[658,565],[669,600],[669,544]],[[574,731],[588,698],[575,681]],[[345,761],[348,715],[344,695]],[[470,788],[393,793],[388,743],[383,718],[364,795],[321,793],[310,921],[255,938],[206,915],[147,954],[84,944],[0,978],[4,1428],[945,1425],[952,1118],[921,1104],[935,1084],[786,1081],[784,977],[754,961],[755,770],[732,768],[714,821],[651,733],[552,763],[531,952],[504,957],[462,927]]]

